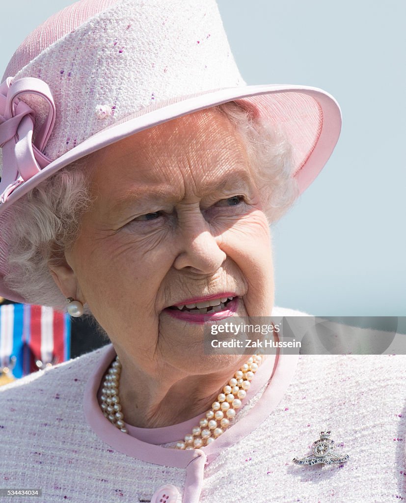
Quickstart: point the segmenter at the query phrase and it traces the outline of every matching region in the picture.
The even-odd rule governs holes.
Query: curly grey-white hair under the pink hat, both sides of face
[[[254,119],[250,110],[230,102],[214,107],[235,125],[244,140],[255,183],[269,223],[292,205],[298,188],[292,178],[292,149],[286,138]],[[91,155],[91,154],[90,154]],[[92,204],[88,157],[84,157],[32,189],[13,206],[6,285],[27,302],[63,308],[66,299],[50,274],[49,264],[63,257],[80,230],[82,214]]]

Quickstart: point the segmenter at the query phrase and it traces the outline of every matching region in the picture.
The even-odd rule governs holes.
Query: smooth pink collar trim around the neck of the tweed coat
[[[106,346],[103,351],[104,353],[90,375],[84,390],[83,408],[87,423],[101,440],[117,451],[148,463],[176,468],[186,468],[193,459],[201,456],[202,452],[207,456],[207,461],[211,462],[223,449],[233,446],[255,430],[279,403],[293,377],[298,360],[298,355],[280,355],[276,369],[274,369],[273,359],[265,360],[259,367],[244,401],[247,402],[255,396],[270,378],[271,380],[261,398],[247,415],[226,430],[210,446],[193,451],[181,451],[160,447],[156,444],[179,440],[185,435],[185,432],[187,433],[198,423],[203,414],[164,428],[137,428],[128,425],[130,435],[123,434],[103,415],[97,401],[100,381],[116,357],[112,344]]]

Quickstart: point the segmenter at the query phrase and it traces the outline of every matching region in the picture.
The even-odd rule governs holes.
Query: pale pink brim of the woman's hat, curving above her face
[[[186,97],[164,106],[158,104],[150,111],[143,110],[127,116],[87,138],[17,187],[7,201],[0,205],[0,215],[39,183],[73,161],[144,129],[237,100],[249,102],[265,121],[282,127],[293,147],[293,176],[302,193],[323,169],[337,143],[341,130],[338,103],[318,88],[290,85],[245,86]]]

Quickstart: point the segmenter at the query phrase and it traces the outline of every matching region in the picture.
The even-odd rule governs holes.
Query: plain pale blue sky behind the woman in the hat
[[[2,5],[1,74],[25,36],[71,3]],[[273,228],[276,303],[319,316],[406,316],[406,3],[219,6],[249,84],[320,87],[343,112],[325,169]]]

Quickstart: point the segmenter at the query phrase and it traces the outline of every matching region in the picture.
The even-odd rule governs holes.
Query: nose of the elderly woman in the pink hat
[[[218,271],[227,255],[219,246],[221,238],[213,235],[204,216],[198,212],[193,218],[183,218],[178,223],[180,251],[174,268],[189,268],[195,274],[207,275]]]

